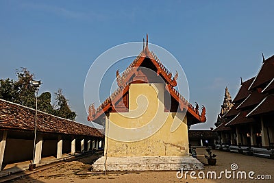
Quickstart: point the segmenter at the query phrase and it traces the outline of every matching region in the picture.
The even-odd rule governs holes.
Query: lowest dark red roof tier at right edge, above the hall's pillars
[[[274,94],[266,96],[262,101],[254,108],[247,117],[252,117],[258,114],[264,114],[268,112],[274,112]]]

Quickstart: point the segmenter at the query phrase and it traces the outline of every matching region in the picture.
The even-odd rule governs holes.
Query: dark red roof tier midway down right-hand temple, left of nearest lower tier
[[[260,92],[260,88],[253,90],[252,93],[245,99],[245,101],[242,101],[242,103],[240,103],[236,109],[238,110],[242,108],[248,108],[249,106],[255,106],[260,103],[260,101],[266,97],[266,94]]]

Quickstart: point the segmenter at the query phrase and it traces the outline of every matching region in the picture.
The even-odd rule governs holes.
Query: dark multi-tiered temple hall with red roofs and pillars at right
[[[214,129],[222,143],[269,147],[274,143],[274,56],[264,59],[256,77],[240,84],[234,106]]]

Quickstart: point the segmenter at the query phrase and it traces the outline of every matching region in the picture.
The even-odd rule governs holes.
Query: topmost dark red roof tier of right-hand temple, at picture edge
[[[270,82],[274,77],[274,56],[264,60],[262,67],[256,76],[255,80],[249,86],[249,90]]]

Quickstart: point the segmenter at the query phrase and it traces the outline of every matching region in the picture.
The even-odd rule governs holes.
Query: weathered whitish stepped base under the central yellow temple
[[[203,169],[203,164],[191,156],[139,156],[99,158],[92,171],[167,171]]]

